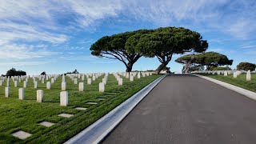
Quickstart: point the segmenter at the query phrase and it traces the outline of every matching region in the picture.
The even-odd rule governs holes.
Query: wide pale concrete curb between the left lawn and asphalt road
[[[79,134],[70,138],[66,144],[70,143],[98,143],[101,142],[103,138],[109,134],[118,123],[134,109],[138,102],[142,101],[146,97],[146,94],[150,93],[167,74],[162,75],[160,78],[151,82],[148,86],[139,90],[138,93],[134,94],[132,97],[128,98],[125,102],[122,102],[119,106],[111,110],[108,114],[98,119],[92,125],[88,126],[85,130],[82,130]]]

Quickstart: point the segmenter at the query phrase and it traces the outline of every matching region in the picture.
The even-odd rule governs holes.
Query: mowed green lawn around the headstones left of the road
[[[23,82],[18,83],[16,88],[12,79],[10,79],[10,98],[5,98],[5,81],[3,86],[0,86],[0,143],[66,142],[160,76],[151,75],[140,79],[136,77],[134,82],[122,77],[123,85],[118,86],[118,81],[113,74],[110,74],[104,93],[98,92],[98,83],[102,82],[103,75],[92,81],[92,85],[87,85],[85,80],[83,92],[79,92],[78,85],[74,85],[74,82],[66,77],[69,106],[60,106],[59,102],[62,76],[52,84],[51,90],[46,90],[47,81],[43,84],[38,81],[38,89],[34,89],[33,80],[30,78],[24,92],[25,100],[18,99],[18,88],[23,86]],[[78,82],[81,82],[81,79],[78,79]],[[44,102],[36,102],[36,90],[43,90]],[[88,105],[86,102],[98,102],[98,104]],[[75,107],[86,107],[87,110],[76,110]],[[74,114],[74,116],[71,118],[58,116],[62,113]],[[55,124],[50,127],[38,125],[43,121]],[[32,136],[20,140],[11,135],[18,130],[30,133]]]

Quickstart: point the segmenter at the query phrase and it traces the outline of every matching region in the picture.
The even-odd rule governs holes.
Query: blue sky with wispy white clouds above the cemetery
[[[96,58],[90,45],[102,36],[160,26],[198,31],[216,51],[256,63],[256,1],[253,0],[2,0],[0,74],[11,67],[27,74],[124,71],[122,62]],[[171,71],[182,65],[169,63]],[[156,58],[140,58],[134,70],[154,70]]]

